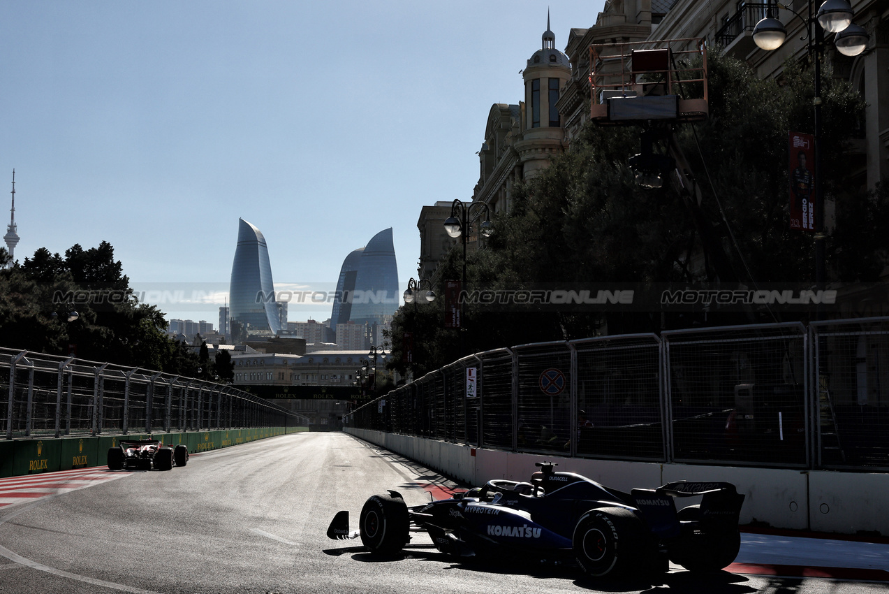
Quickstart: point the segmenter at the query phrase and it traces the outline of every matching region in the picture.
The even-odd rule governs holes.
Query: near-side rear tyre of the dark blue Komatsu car
[[[586,574],[616,577],[640,561],[645,526],[629,510],[590,510],[574,526],[572,543],[574,556]]]

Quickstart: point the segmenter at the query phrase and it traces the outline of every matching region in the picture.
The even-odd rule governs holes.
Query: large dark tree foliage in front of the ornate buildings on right
[[[850,185],[853,167],[845,148],[860,128],[864,103],[824,70],[821,147],[829,157],[821,175],[828,200],[837,204],[828,239],[831,272],[837,280],[876,281],[886,263],[889,192]],[[515,189],[486,249],[469,253],[469,288],[811,281],[813,237],[789,229],[787,171],[789,132],[813,131],[812,104],[811,68],[788,62],[779,79],[761,80],[745,62],[711,53],[709,119],[671,131],[701,191],[699,209],[670,184],[642,189],[635,183],[629,157],[639,152],[640,128],[588,122],[568,152]],[[461,277],[458,252],[442,264],[442,278]],[[693,266],[693,253],[703,253],[703,267]],[[441,295],[442,287],[436,292]],[[484,306],[469,307],[468,315],[461,339],[442,328],[439,301],[400,309],[389,365],[416,376],[469,352],[605,331],[659,332],[701,321],[660,311],[541,313]],[[708,323],[751,321],[735,316]],[[405,330],[416,336],[413,365],[401,358]]]

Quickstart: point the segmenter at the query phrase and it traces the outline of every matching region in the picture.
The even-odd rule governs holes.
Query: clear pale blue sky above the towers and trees
[[[603,4],[4,0],[0,235],[14,168],[18,261],[106,240],[168,317],[217,325],[221,299],[169,295],[228,291],[238,217],[276,286],[332,290],[388,227],[406,285],[420,207],[471,199],[548,7],[564,49]]]

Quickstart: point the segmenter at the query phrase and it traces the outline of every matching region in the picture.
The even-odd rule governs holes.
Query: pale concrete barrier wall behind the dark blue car
[[[528,480],[537,470],[534,462],[544,461],[557,462],[558,470],[577,472],[621,491],[653,488],[676,480],[725,481],[745,495],[741,524],[838,534],[889,534],[889,514],[885,513],[889,509],[889,474],[560,458],[418,437],[397,440],[393,438],[396,436],[366,429],[346,431],[472,486],[492,478]],[[403,449],[388,447],[387,443]],[[700,497],[684,498],[677,504],[685,507],[696,502]]]

